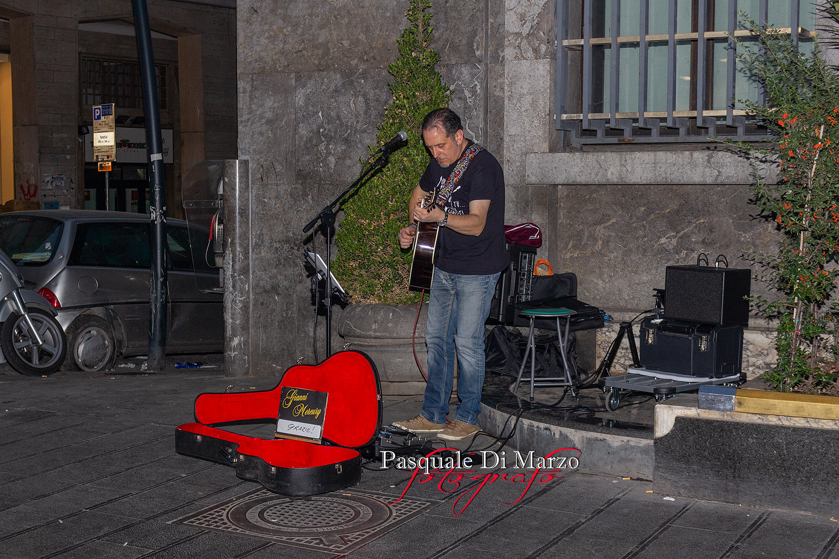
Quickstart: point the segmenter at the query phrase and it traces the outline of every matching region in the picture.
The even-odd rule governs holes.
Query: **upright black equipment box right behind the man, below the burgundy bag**
[[[533,291],[536,248],[508,242],[507,254],[510,263],[498,277],[492,303],[489,305],[487,323],[490,324],[512,324],[518,313],[518,309],[513,305],[528,301]]]

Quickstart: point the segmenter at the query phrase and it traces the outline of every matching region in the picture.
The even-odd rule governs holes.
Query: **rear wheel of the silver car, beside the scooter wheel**
[[[111,324],[95,314],[82,314],[67,329],[70,365],[76,370],[111,369],[117,360],[117,339]]]

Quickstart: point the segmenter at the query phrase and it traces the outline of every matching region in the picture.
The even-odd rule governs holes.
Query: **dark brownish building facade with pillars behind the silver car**
[[[182,217],[185,171],[237,154],[235,2],[152,0],[148,8],[167,92],[161,126],[174,138],[174,158],[165,165],[167,205],[169,215]],[[0,0],[0,52],[12,65],[14,197],[85,207],[83,132],[90,132],[94,97],[80,93],[81,67],[85,59],[138,60],[132,3]],[[116,115],[117,127],[144,127],[142,106],[117,103]],[[98,179],[89,167],[88,181]],[[53,177],[63,179],[61,189]]]

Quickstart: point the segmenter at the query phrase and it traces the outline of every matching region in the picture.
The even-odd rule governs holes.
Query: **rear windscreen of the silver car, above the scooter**
[[[18,266],[43,266],[55,256],[64,223],[49,217],[3,215],[0,249]]]

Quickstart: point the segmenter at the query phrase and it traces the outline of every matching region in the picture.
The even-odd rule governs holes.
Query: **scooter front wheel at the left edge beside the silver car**
[[[52,375],[64,363],[67,342],[61,325],[40,309],[29,311],[42,344],[34,343],[29,323],[23,315],[13,313],[0,328],[0,347],[9,365],[28,376]]]

